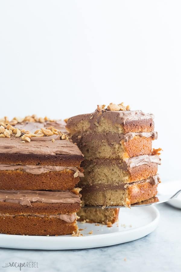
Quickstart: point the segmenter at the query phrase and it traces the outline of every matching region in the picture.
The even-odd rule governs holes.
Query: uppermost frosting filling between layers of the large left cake
[[[63,170],[71,170],[78,173],[78,176],[84,176],[77,167],[66,167],[66,166],[52,166],[52,165],[21,165],[21,164],[0,164],[1,170],[22,170],[30,174],[42,174],[48,171],[63,171]]]

